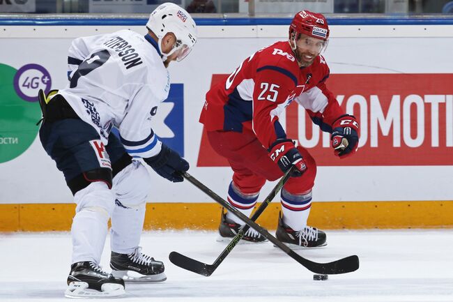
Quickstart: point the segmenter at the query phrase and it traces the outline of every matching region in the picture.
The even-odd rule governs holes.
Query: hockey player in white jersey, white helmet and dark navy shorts
[[[124,293],[124,280],[166,279],[164,264],[139,247],[151,180],[146,167],[133,158],[143,158],[173,182],[183,181],[181,172],[189,169],[186,160],[156,137],[151,121],[169,94],[167,66],[189,54],[197,29],[174,3],[156,8],[146,27],[146,36],[123,30],[75,39],[68,56],[68,86],[48,96],[40,91],[40,140],[77,204],[69,297],[118,296]],[[109,218],[112,274],[99,266]]]

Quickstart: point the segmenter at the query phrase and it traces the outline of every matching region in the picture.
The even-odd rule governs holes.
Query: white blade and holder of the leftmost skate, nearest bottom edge
[[[125,294],[123,285],[116,283],[105,283],[101,291],[89,289],[86,282],[70,282],[65,291],[66,298],[112,298]]]

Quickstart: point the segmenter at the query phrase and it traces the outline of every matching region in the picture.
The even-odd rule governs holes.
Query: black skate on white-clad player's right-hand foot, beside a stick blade
[[[144,255],[141,247],[130,254],[112,252],[110,267],[115,277],[126,282],[161,282],[167,280],[164,263]]]

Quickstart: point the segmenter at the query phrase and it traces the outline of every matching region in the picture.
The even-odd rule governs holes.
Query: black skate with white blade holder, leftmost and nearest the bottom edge
[[[77,262],[71,265],[68,276],[68,298],[113,297],[125,294],[124,280],[102,271],[94,262]]]

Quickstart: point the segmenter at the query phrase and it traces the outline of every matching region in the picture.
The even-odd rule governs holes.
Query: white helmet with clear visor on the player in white
[[[184,59],[197,42],[197,25],[184,8],[174,3],[163,3],[149,16],[146,27],[158,37],[158,45],[165,61],[174,52],[179,52],[177,61]],[[167,54],[162,52],[162,38],[167,33],[174,33],[176,45]]]

